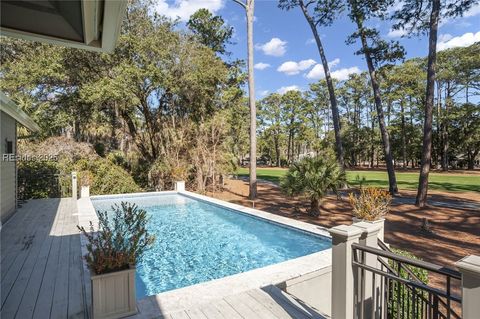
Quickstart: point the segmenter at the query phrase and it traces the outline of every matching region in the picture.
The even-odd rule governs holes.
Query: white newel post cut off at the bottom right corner
[[[480,256],[470,255],[455,263],[462,273],[462,318],[480,314]]]

